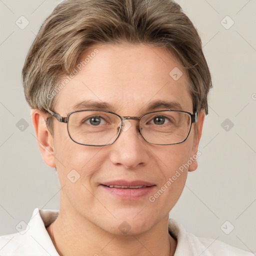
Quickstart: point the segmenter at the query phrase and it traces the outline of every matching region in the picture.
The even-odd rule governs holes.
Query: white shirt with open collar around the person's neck
[[[0,256],[59,256],[46,227],[55,220],[58,210],[35,208],[25,230],[0,236]],[[22,229],[20,223],[17,229]],[[186,232],[176,220],[169,219],[169,231],[177,239],[174,256],[253,256],[224,242],[199,238]]]

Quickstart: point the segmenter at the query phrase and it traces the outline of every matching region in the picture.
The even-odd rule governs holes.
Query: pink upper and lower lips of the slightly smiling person
[[[141,188],[117,188],[117,187],[108,187],[108,185],[118,185],[118,186],[138,186],[143,185]],[[155,184],[149,183],[143,180],[113,180],[104,182],[100,184],[105,192],[125,200],[137,200],[143,196],[152,192],[155,187]]]

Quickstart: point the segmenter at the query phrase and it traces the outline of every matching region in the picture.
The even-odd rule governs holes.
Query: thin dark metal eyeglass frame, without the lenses
[[[111,144],[113,144],[113,143],[116,141],[116,139],[119,137],[119,135],[120,135],[120,133],[121,133],[121,130],[122,130],[122,127],[123,127],[123,121],[124,121],[124,120],[138,120],[138,123],[139,123],[140,119],[141,119],[144,115],[146,115],[146,114],[151,114],[151,113],[155,113],[155,112],[161,112],[161,111],[183,112],[183,113],[187,113],[187,114],[190,115],[190,125],[189,125],[189,130],[188,130],[188,133],[187,133],[186,137],[185,137],[182,141],[175,142],[175,143],[170,143],[170,144],[151,143],[151,142],[148,142],[148,141],[144,138],[144,136],[142,135],[142,133],[141,133],[140,130],[139,130],[139,132],[140,132],[142,138],[143,138],[147,143],[149,143],[149,144],[154,144],[154,145],[174,145],[174,144],[180,144],[180,143],[184,142],[184,141],[187,139],[187,137],[188,137],[188,135],[189,135],[189,133],[190,133],[191,127],[192,127],[192,123],[197,122],[197,117],[198,117],[198,116],[197,116],[197,112],[194,112],[194,113],[192,114],[192,113],[190,113],[190,112],[188,112],[188,111],[185,111],[185,110],[176,110],[176,109],[155,110],[155,111],[151,111],[151,112],[148,112],[148,113],[144,113],[144,114],[142,114],[142,115],[140,115],[140,116],[120,116],[119,114],[117,114],[117,113],[115,113],[115,112],[112,112],[112,111],[109,111],[109,110],[101,110],[101,109],[80,109],[80,110],[74,110],[74,111],[71,111],[71,112],[67,113],[66,117],[63,117],[62,115],[60,115],[60,114],[58,114],[58,113],[56,113],[56,112],[53,112],[53,111],[51,111],[51,110],[49,110],[49,109],[44,109],[44,110],[45,110],[46,112],[48,112],[50,115],[54,116],[54,117],[57,119],[57,121],[66,123],[67,133],[68,133],[68,135],[69,135],[69,137],[71,138],[72,141],[74,141],[74,142],[77,143],[77,144],[85,145],[85,146],[86,146],[86,145],[87,145],[87,146],[106,146],[106,145],[111,145]],[[119,131],[118,131],[118,134],[117,134],[116,138],[115,138],[111,143],[109,143],[109,144],[104,144],[104,145],[90,145],[90,144],[84,144],[84,143],[80,143],[80,142],[75,141],[75,140],[71,137],[71,135],[70,135],[70,133],[69,133],[69,130],[68,130],[68,119],[69,119],[69,116],[70,116],[72,113],[74,113],[74,112],[82,112],[82,111],[101,111],[101,112],[112,113],[112,114],[115,114],[116,116],[118,116],[118,117],[120,118],[121,125],[120,125],[120,128],[118,127],[118,128],[119,128]]]

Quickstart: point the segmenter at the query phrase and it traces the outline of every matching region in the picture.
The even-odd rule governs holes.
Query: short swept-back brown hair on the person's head
[[[57,83],[96,43],[143,43],[164,47],[185,69],[193,111],[208,113],[211,75],[201,39],[173,0],[64,0],[43,22],[23,69],[31,108],[53,109]],[[47,122],[47,124],[49,124]]]

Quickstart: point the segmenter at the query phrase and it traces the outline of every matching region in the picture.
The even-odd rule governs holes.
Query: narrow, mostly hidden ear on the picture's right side
[[[197,127],[197,132],[195,130],[194,131],[194,138],[193,138],[193,146],[192,146],[192,150],[191,150],[191,155],[190,155],[190,160],[192,161],[192,163],[189,165],[188,171],[193,171],[196,170],[197,168],[197,157],[201,155],[200,152],[198,151],[198,144],[201,138],[201,134],[202,134],[202,125],[203,125],[203,121],[204,121],[204,110],[201,110],[198,114],[197,117],[197,122],[195,123],[196,127]]]

